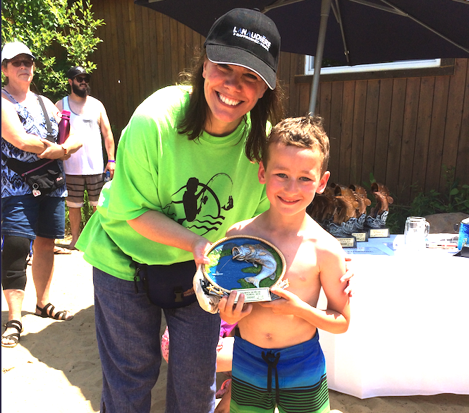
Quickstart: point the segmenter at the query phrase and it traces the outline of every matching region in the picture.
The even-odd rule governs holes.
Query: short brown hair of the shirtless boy
[[[327,164],[329,163],[329,138],[326,131],[324,131],[321,116],[307,115],[298,118],[286,118],[276,124],[272,128],[262,150],[262,163],[264,167],[267,167],[269,146],[272,143],[319,150],[322,154],[321,175],[327,171]]]

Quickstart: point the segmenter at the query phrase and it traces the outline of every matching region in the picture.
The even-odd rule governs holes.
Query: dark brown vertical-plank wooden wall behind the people
[[[204,38],[133,0],[94,0],[92,11],[106,23],[90,56],[98,66],[92,95],[104,103],[118,135],[145,97],[176,82]],[[331,138],[331,181],[362,184],[372,173],[401,203],[421,190],[444,191],[451,168],[469,184],[468,60],[450,59],[436,73],[401,73],[405,77],[322,76],[317,113]],[[282,52],[288,116],[307,112],[311,77],[303,73],[304,56]]]

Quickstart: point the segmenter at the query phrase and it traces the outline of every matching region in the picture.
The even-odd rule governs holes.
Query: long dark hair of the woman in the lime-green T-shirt
[[[180,84],[192,85],[193,92],[190,103],[185,116],[179,120],[178,133],[188,135],[190,140],[194,140],[202,133],[205,122],[208,117],[208,104],[205,100],[204,81],[202,71],[207,56],[205,51],[200,58],[195,61],[193,68],[180,74]],[[284,92],[276,80],[276,88],[274,90],[267,88],[264,96],[257,101],[255,107],[250,112],[251,128],[245,144],[245,154],[251,162],[259,162],[262,156],[262,146],[267,136],[265,133],[267,121],[272,126],[284,117],[284,108],[282,99]]]

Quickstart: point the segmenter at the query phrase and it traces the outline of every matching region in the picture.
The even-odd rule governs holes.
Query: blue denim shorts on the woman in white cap
[[[65,198],[32,193],[1,198],[1,233],[29,239],[65,237]]]

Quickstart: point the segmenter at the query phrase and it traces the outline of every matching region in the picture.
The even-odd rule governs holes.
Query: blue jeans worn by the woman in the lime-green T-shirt
[[[150,412],[150,392],[162,361],[162,309],[150,303],[141,281],[135,285],[93,268],[93,282],[101,412]],[[171,337],[165,412],[213,412],[219,315],[197,302],[163,311]]]

